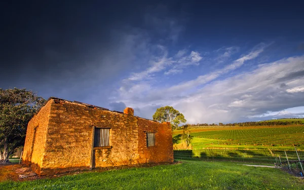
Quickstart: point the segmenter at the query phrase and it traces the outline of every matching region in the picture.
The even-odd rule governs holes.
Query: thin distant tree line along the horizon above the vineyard
[[[240,126],[240,127],[246,127],[246,126],[274,126],[274,125],[303,125],[303,121],[300,119],[304,118],[283,118],[283,119],[299,119],[294,121],[280,121],[280,120],[272,120],[272,121],[261,121],[261,122],[242,122],[242,123],[218,123],[218,124],[186,124],[189,127],[208,127],[208,126]],[[183,127],[179,127],[178,129],[182,129]]]

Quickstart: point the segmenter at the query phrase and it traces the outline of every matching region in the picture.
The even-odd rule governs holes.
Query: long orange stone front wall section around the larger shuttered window
[[[50,127],[42,175],[88,169],[93,126],[111,128],[109,145],[112,148],[94,150],[96,167],[138,163],[138,129],[135,117],[63,100],[58,103],[55,100],[50,101]]]

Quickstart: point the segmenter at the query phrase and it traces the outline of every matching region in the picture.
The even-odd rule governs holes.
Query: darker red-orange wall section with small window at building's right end
[[[170,123],[158,123],[138,118],[138,154],[140,163],[173,162],[172,132]],[[156,131],[156,145],[146,145],[146,132]]]

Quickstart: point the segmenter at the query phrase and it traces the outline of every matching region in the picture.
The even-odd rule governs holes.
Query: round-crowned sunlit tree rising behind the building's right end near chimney
[[[182,113],[168,105],[158,108],[153,115],[153,120],[161,123],[170,122],[172,130],[176,129],[180,123],[186,122]]]

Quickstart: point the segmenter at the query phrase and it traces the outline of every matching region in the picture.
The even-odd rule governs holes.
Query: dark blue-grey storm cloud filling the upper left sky
[[[120,27],[133,23],[139,13],[130,8],[140,5],[2,3],[0,88],[27,88],[45,98],[104,97],[128,67],[132,55]]]

